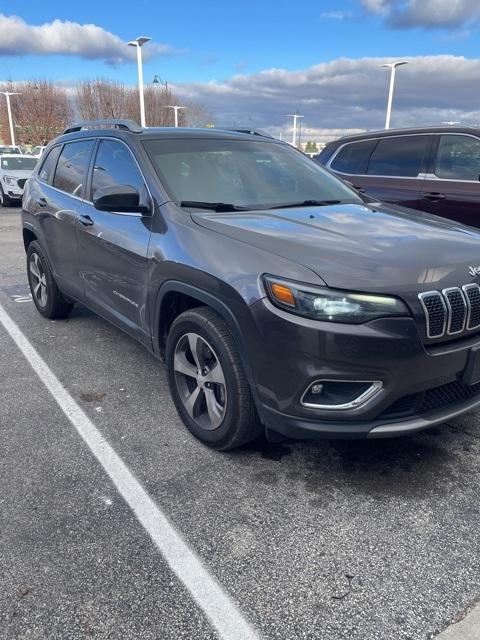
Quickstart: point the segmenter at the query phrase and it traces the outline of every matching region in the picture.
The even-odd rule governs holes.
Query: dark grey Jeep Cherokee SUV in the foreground
[[[384,437],[480,402],[480,232],[255,132],[113,124],[70,127],[28,181],[33,300],[164,359],[195,436]]]

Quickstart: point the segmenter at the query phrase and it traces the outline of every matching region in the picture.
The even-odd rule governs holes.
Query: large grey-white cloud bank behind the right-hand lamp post
[[[480,60],[460,56],[404,58],[393,104],[393,126],[435,125],[454,120],[480,123],[475,91]],[[385,122],[389,75],[379,67],[389,58],[340,58],[298,71],[266,69],[223,82],[172,87],[185,100],[200,102],[217,126],[248,125],[285,136],[296,109],[304,132],[326,140],[345,130],[380,129]],[[304,139],[306,139],[304,137]]]

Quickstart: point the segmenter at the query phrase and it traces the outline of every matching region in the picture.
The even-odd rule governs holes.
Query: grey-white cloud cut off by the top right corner
[[[361,0],[393,27],[458,28],[480,20],[478,0]]]

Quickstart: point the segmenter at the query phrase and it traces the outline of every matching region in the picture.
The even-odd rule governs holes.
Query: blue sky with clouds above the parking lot
[[[0,81],[144,77],[207,107],[217,126],[328,140],[381,128],[388,71],[392,126],[480,123],[480,0],[0,0]]]

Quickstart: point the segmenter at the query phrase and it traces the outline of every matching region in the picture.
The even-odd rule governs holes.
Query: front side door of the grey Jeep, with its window
[[[148,342],[145,323],[148,215],[98,211],[93,194],[101,187],[129,185],[150,205],[145,180],[129,147],[121,140],[98,142],[88,187],[88,217],[77,223],[81,277],[87,304]]]

